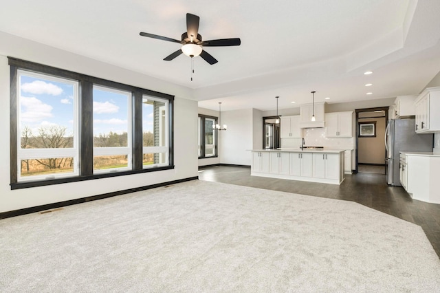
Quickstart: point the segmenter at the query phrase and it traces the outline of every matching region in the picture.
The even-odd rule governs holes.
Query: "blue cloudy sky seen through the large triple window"
[[[68,135],[73,133],[77,83],[26,73],[21,74],[19,83],[21,129],[28,126],[36,135],[39,127],[60,125],[67,128]],[[129,92],[94,87],[94,135],[129,132],[129,96]],[[153,107],[144,105],[142,116],[143,130],[152,132]]]

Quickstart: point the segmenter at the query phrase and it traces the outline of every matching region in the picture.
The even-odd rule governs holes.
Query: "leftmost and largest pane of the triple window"
[[[19,181],[78,175],[78,82],[17,72]]]

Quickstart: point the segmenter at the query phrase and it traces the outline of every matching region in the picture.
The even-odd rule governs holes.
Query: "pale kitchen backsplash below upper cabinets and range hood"
[[[440,135],[439,135],[440,137]],[[324,146],[325,149],[354,149],[355,138],[326,138],[325,128],[303,129],[305,146]],[[301,144],[300,138],[282,138],[281,147],[297,149]]]

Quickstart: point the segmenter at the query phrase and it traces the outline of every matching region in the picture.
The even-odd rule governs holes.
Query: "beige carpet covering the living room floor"
[[[0,292],[439,292],[419,226],[195,180],[0,220]]]

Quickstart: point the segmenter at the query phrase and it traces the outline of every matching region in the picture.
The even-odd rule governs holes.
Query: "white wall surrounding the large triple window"
[[[197,102],[188,100],[188,89],[2,32],[0,40],[0,125],[3,129],[3,143],[0,144],[0,213],[197,176]],[[175,169],[11,191],[10,68],[6,56],[175,95]]]

